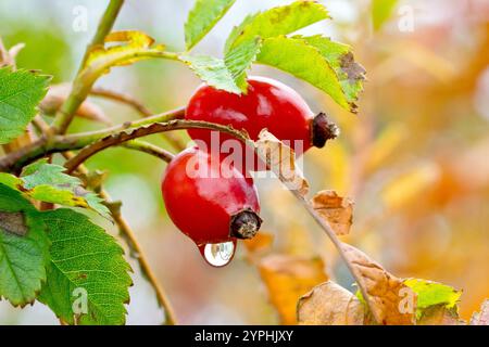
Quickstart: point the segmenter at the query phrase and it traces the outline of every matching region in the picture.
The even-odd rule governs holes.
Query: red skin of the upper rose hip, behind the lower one
[[[288,143],[298,155],[312,146],[311,127],[314,114],[292,88],[265,77],[249,77],[246,94],[234,94],[203,85],[197,89],[186,110],[186,119],[231,125],[244,129],[252,140],[268,129],[276,138]],[[211,146],[211,131],[190,129],[193,140]],[[220,134],[221,143],[230,139]],[[302,141],[302,147],[294,145]]]

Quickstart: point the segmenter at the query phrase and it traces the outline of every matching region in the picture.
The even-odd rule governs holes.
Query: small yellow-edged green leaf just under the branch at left
[[[20,190],[40,202],[91,208],[109,219],[110,211],[102,204],[103,200],[96,193],[86,191],[78,178],[63,174],[64,170],[62,166],[48,164],[47,159],[41,159],[26,166],[20,178],[0,174],[0,183]]]

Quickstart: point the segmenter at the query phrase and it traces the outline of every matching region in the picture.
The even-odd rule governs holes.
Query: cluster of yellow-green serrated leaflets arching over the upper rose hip
[[[365,72],[354,62],[350,47],[322,36],[286,36],[326,18],[329,15],[322,4],[296,1],[246,17],[227,38],[224,61],[206,55],[181,55],[180,60],[210,86],[233,93],[247,91],[247,70],[254,62],[269,65],[355,112]]]

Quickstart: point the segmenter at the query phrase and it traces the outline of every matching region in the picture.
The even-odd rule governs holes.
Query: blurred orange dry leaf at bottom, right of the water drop
[[[259,270],[284,324],[296,324],[299,298],[328,280],[321,258],[269,255],[260,261]]]

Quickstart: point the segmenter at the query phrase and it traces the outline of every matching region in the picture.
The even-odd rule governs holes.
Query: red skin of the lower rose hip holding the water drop
[[[230,236],[234,216],[242,210],[260,211],[251,178],[231,168],[231,177],[220,171],[220,156],[190,147],[170,163],[161,184],[163,200],[175,226],[199,245],[235,240]],[[204,175],[190,177],[187,169]]]

